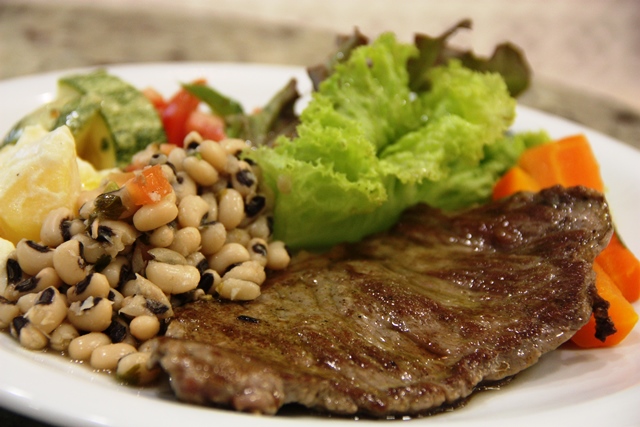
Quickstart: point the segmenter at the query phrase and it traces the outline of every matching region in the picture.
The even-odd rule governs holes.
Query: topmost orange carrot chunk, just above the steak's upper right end
[[[522,153],[518,165],[542,188],[583,185],[604,191],[600,167],[583,134],[530,148]]]

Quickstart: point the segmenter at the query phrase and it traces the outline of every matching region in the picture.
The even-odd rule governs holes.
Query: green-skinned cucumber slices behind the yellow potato
[[[125,166],[150,143],[166,141],[151,102],[104,70],[61,78],[56,99],[20,120],[2,145],[15,143],[30,124],[48,130],[69,126],[78,155],[97,169]]]

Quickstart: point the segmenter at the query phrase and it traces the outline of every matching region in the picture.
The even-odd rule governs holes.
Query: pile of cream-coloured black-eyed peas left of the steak
[[[136,204],[127,185],[107,178],[81,194],[77,212],[52,211],[40,241],[21,240],[7,260],[0,329],[124,381],[153,380],[145,343],[176,305],[255,299],[265,270],[289,264],[283,242],[271,239],[259,170],[239,155],[245,148],[196,133],[184,147],[153,144],[125,175],[160,170],[164,193]]]

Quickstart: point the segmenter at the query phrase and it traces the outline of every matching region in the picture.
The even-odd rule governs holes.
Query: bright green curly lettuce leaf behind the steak
[[[429,89],[416,92],[407,63],[417,55],[390,33],[353,49],[313,93],[297,136],[248,154],[273,194],[275,238],[322,248],[384,230],[435,195],[458,206],[515,101],[499,75],[457,60],[431,69]]]

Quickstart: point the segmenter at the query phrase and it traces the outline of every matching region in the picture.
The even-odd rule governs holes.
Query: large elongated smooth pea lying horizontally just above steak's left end
[[[167,264],[155,260],[149,261],[146,276],[165,294],[181,294],[198,287],[200,271],[188,264]]]

